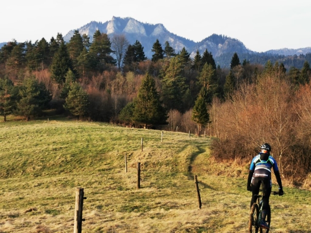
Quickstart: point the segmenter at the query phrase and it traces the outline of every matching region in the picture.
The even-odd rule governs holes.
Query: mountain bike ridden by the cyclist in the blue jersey
[[[259,189],[259,192],[262,192],[261,189]],[[272,191],[271,194],[277,195],[277,191]],[[262,229],[260,227],[260,222],[261,222],[261,212],[262,212],[262,195],[255,195],[257,197],[257,201],[252,205],[251,212],[249,215],[249,222],[248,222],[248,230],[249,233],[268,233],[269,229]],[[271,223],[271,209],[270,205],[268,206],[267,209],[267,216],[266,216],[266,222],[270,228],[270,223]]]

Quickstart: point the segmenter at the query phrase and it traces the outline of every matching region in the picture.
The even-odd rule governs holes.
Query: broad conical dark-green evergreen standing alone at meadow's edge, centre
[[[133,120],[145,128],[151,125],[167,124],[166,110],[162,107],[155,87],[155,79],[148,73],[142,79],[134,100]]]

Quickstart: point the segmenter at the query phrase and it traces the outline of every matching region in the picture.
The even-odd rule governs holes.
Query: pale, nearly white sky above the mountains
[[[311,0],[5,0],[0,9],[0,43],[50,41],[115,16],[195,42],[222,34],[257,52],[311,47]]]

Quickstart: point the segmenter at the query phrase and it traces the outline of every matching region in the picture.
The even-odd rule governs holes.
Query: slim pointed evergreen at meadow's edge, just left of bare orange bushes
[[[209,122],[209,114],[207,112],[207,102],[205,97],[205,88],[202,87],[198,98],[195,100],[193,109],[192,109],[192,115],[191,119],[197,123],[198,127],[198,135],[200,135],[200,132],[202,130],[202,126],[207,125]]]

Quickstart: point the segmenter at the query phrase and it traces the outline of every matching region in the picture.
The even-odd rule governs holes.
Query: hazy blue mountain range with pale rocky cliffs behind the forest
[[[298,56],[300,54],[311,53],[311,47],[296,50],[285,48],[280,50],[268,50],[266,52],[259,53],[247,49],[245,45],[238,39],[218,34],[212,34],[200,42],[194,42],[190,39],[169,32],[161,23],[142,23],[131,17],[112,17],[111,20],[104,23],[91,21],[80,28],[69,31],[64,36],[64,40],[66,42],[69,42],[75,30],[79,30],[81,35],[86,33],[90,37],[90,41],[92,41],[93,34],[96,32],[96,30],[99,30],[101,33],[107,33],[110,38],[114,34],[124,34],[130,44],[134,44],[136,40],[138,40],[144,47],[145,55],[148,58],[152,57],[153,52],[151,50],[156,39],[158,39],[162,44],[163,49],[165,41],[168,41],[176,53],[185,47],[185,49],[190,53],[190,57],[192,58],[194,57],[197,50],[199,50],[200,54],[202,55],[203,52],[207,49],[212,53],[216,63],[221,67],[229,66],[230,59],[234,52],[238,53],[240,60],[247,59],[250,62],[258,63],[264,63],[267,59],[277,61],[284,56]],[[3,46],[3,44],[5,43],[0,43],[0,47]],[[265,58],[262,59],[262,57]]]

